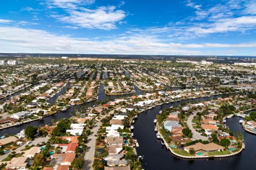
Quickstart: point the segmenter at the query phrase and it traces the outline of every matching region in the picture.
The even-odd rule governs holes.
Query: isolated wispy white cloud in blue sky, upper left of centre
[[[115,6],[101,6],[95,10],[81,8],[68,10],[68,15],[51,15],[61,22],[73,24],[82,28],[111,30],[116,23],[125,18],[125,12],[116,10]]]

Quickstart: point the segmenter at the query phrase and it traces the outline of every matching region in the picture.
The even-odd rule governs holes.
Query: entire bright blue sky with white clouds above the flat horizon
[[[256,0],[9,0],[0,52],[256,56]]]

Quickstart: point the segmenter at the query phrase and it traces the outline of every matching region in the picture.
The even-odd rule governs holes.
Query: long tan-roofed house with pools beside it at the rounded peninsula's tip
[[[203,143],[196,143],[195,145],[184,147],[184,150],[189,152],[190,148],[193,148],[195,151],[206,151],[206,152],[220,151],[220,150],[225,149],[224,147],[219,146],[215,143],[207,143],[205,145]]]

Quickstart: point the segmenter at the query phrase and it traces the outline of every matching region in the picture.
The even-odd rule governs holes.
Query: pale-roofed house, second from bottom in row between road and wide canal
[[[123,157],[123,154],[113,154],[103,157],[102,161],[107,162],[108,166],[126,166],[128,165],[128,162],[127,160],[122,159]]]

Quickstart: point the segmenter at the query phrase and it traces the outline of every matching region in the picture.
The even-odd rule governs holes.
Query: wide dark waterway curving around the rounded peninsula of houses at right
[[[214,97],[205,97],[196,100],[210,100],[212,98]],[[183,102],[184,101],[157,106],[154,109],[140,114],[138,120],[134,123],[134,139],[137,139],[140,145],[139,148],[137,148],[137,153],[138,155],[144,156],[142,163],[144,169],[255,169],[256,136],[244,132],[242,126],[238,123],[241,119],[239,117],[228,119],[227,125],[231,131],[241,131],[244,134],[245,150],[243,150],[241,154],[214,160],[185,160],[173,156],[169,150],[162,148],[161,142],[157,140],[156,133],[154,132],[154,118],[162,109],[178,106]]]

